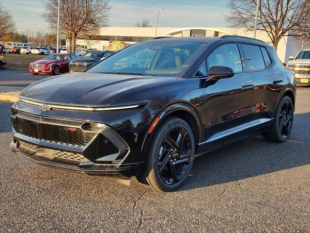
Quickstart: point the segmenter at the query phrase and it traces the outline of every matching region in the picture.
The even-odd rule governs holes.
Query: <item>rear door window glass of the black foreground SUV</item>
[[[249,71],[266,68],[263,60],[263,54],[259,46],[243,44],[242,48],[245,52],[247,69]]]

